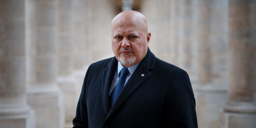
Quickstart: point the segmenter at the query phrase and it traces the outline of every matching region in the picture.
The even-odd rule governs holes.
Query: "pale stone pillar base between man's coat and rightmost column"
[[[195,87],[198,127],[219,128],[219,110],[227,101],[225,85],[208,84]]]

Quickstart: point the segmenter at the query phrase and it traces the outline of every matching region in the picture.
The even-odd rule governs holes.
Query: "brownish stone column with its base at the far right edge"
[[[221,128],[255,128],[256,1],[228,2],[228,101],[221,112]]]

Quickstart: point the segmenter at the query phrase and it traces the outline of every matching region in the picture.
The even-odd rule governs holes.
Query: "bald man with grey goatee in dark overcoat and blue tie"
[[[73,128],[197,128],[187,73],[155,57],[140,12],[124,11],[111,23],[115,57],[91,64]]]

